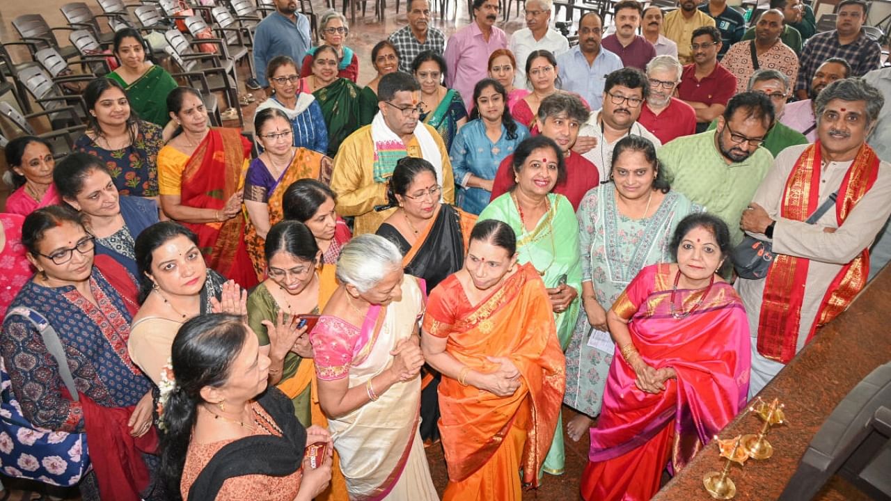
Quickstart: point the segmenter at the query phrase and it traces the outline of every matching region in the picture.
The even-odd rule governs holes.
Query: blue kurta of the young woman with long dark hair
[[[508,139],[507,127],[502,124],[502,135],[496,143],[486,136],[486,124],[482,119],[470,120],[458,130],[452,142],[449,159],[452,160],[455,185],[458,193],[458,206],[472,214],[479,214],[489,204],[492,193],[482,188],[468,188],[470,175],[483,179],[495,179],[498,166],[508,155],[512,155],[520,142],[529,136],[529,130],[517,124],[517,137]]]

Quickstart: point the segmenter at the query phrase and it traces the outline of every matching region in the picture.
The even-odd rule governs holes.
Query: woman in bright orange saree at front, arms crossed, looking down
[[[464,268],[430,292],[421,347],[443,375],[444,500],[519,500],[557,427],[563,351],[544,282],[517,264],[516,245],[511,226],[478,223]]]

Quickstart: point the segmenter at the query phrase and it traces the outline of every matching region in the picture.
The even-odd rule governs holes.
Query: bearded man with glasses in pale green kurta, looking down
[[[714,131],[678,137],[656,153],[672,189],[722,218],[734,245],[742,242],[742,211],[773,165],[761,147],[773,119],[766,95],[736,94]]]

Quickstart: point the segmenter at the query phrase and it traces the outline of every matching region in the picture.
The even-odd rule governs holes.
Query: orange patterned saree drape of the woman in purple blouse
[[[249,168],[266,168],[266,165],[259,159],[254,160]],[[274,182],[274,185],[266,187],[266,207],[269,210],[269,226],[273,226],[284,218],[284,208],[282,207],[282,197],[288,186],[294,184],[298,179],[305,178],[317,179],[325,184],[331,180],[331,158],[323,155],[315,150],[307,148],[297,148],[294,152],[294,158],[291,160],[288,168],[282,172],[282,176]],[[245,200],[255,200],[259,197],[251,197],[247,191],[251,187],[245,185]],[[266,276],[266,239],[257,234],[257,228],[250,222],[250,218],[245,218],[244,226],[245,246],[250,256],[250,262],[254,265],[254,272],[257,274],[257,280],[263,280]]]

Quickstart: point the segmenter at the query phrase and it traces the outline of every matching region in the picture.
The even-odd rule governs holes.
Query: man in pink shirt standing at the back
[[[468,110],[473,105],[473,86],[488,76],[489,55],[507,48],[507,36],[495,27],[499,10],[498,0],[473,0],[474,21],[446,43],[446,86],[461,94]]]

